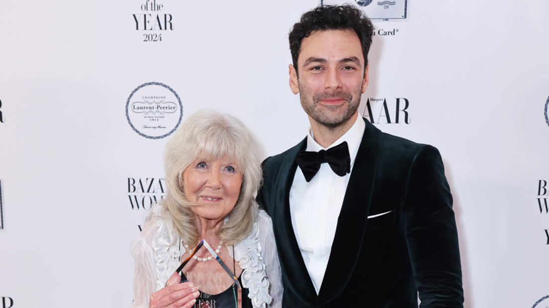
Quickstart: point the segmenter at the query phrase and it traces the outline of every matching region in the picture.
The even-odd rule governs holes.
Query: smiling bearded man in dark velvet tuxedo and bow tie
[[[450,187],[438,150],[380,132],[357,112],[373,25],[321,6],[289,35],[290,88],[311,128],[265,159],[283,307],[463,307]]]

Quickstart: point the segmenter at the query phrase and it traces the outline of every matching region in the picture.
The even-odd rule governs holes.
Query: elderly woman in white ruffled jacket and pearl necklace
[[[205,247],[181,276],[175,272],[202,239],[238,277],[239,306],[281,306],[272,223],[254,198],[261,168],[244,124],[215,111],[194,113],[167,142],[164,165],[167,196],[131,244],[130,307],[234,307],[236,283]]]

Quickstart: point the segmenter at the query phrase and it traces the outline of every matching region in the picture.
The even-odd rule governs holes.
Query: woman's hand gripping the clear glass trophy
[[[167,282],[167,286],[150,295],[149,308],[191,308],[200,294],[198,288],[192,282],[181,281],[181,276],[173,273]]]

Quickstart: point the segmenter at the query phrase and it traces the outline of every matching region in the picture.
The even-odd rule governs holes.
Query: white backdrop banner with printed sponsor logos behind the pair
[[[362,116],[441,152],[465,306],[549,306],[549,3],[351,3],[376,26]],[[0,308],[131,303],[130,241],[193,112],[242,119],[262,158],[304,138],[288,32],[318,4],[3,1]]]

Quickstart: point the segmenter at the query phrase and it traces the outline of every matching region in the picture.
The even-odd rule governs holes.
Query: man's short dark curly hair
[[[360,9],[349,5],[321,5],[301,15],[301,19],[290,31],[290,52],[295,71],[298,71],[298,58],[303,38],[309,37],[314,31],[328,30],[352,30],[355,31],[366,64],[368,64],[368,51],[372,45],[374,26]]]

